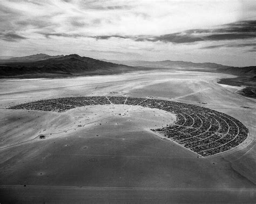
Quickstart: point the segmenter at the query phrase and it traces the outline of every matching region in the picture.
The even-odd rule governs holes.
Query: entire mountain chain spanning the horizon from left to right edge
[[[190,71],[218,72],[240,76],[254,76],[256,67],[231,67],[210,62],[188,61],[117,61],[80,57],[77,54],[35,54],[26,57],[1,59],[0,78],[45,78],[97,74],[118,74],[149,69],[186,69]]]

